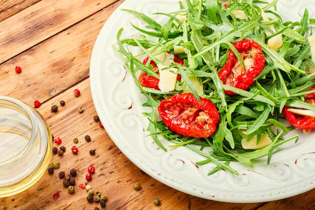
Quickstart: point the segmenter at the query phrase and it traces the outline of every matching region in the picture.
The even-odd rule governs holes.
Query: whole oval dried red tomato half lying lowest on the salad
[[[200,97],[201,103],[192,93],[179,93],[161,101],[157,108],[163,122],[172,131],[189,137],[211,136],[220,120],[214,104]]]

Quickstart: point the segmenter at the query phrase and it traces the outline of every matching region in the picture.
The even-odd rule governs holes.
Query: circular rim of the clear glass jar
[[[19,154],[17,154],[16,156],[10,158],[9,160],[3,161],[3,162],[0,161],[0,166],[5,166],[5,165],[8,165],[8,164],[11,164],[13,162],[16,162],[16,161],[20,160],[21,158],[23,158],[23,156],[25,156],[25,154],[28,153],[28,151],[32,148],[32,146],[33,146],[33,144],[35,142],[38,125],[37,125],[37,121],[35,119],[35,116],[34,116],[32,110],[30,109],[30,107],[26,103],[24,103],[24,102],[22,102],[22,101],[20,101],[18,99],[15,99],[13,97],[1,96],[0,95],[0,101],[1,100],[6,100],[6,101],[9,101],[11,103],[15,103],[15,104],[17,104],[18,107],[22,108],[25,111],[25,113],[21,113],[19,110],[16,110],[16,109],[14,109],[14,110],[17,111],[17,112],[20,112],[26,118],[28,118],[28,120],[30,121],[30,123],[32,125],[32,135],[30,137],[29,142],[25,146],[25,148],[23,150],[21,150],[21,152],[19,152]],[[13,109],[12,107],[9,107],[9,106],[8,107],[4,107],[4,108]]]

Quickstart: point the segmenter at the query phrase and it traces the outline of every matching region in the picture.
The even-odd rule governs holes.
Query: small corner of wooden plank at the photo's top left
[[[3,0],[0,5],[0,22],[41,0]]]

